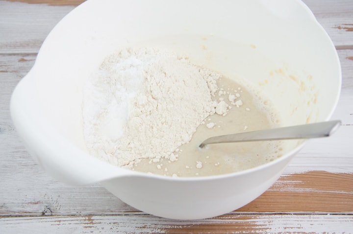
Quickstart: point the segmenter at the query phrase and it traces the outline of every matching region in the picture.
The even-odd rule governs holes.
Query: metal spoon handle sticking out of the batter
[[[215,143],[328,137],[339,127],[340,124],[340,120],[332,120],[327,122],[229,134],[208,138],[204,140],[199,147],[203,148],[206,144]]]

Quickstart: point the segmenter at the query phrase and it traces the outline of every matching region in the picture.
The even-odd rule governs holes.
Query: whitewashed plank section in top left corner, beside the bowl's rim
[[[72,9],[0,0],[0,53],[37,53],[51,29]]]

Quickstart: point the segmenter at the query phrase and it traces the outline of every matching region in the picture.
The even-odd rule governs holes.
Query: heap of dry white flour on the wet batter
[[[177,148],[204,118],[227,114],[211,99],[220,77],[170,52],[129,48],[110,55],[84,86],[88,151],[126,167],[147,158],[177,160]]]

